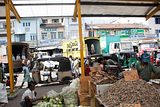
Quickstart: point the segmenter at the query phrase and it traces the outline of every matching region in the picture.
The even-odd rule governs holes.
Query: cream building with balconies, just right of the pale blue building
[[[42,18],[39,47],[58,46],[65,39],[64,18]]]

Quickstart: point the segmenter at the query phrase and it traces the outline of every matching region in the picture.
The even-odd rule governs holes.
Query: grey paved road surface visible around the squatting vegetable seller
[[[37,97],[45,95],[48,91],[54,90],[56,92],[61,92],[62,88],[67,85],[52,85],[52,86],[41,86],[36,87]],[[22,89],[22,91],[18,94],[16,98],[13,100],[9,100],[9,103],[5,107],[21,107],[19,102],[21,100],[21,96],[26,89]]]

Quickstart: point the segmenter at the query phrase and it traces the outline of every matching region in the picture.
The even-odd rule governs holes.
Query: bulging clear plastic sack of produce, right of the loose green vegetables
[[[75,107],[78,105],[76,88],[64,87],[62,89],[61,95],[63,96],[64,104],[66,107]]]

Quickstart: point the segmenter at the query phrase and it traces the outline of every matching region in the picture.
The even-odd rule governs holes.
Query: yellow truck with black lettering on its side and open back
[[[83,38],[83,54],[84,57],[101,54],[99,37],[84,37]],[[80,43],[79,39],[73,39],[63,42],[63,56],[80,58]]]

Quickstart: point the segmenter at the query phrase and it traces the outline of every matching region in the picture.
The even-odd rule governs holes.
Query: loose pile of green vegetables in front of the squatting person
[[[43,97],[43,101],[39,102],[36,106],[33,107],[63,107],[63,98],[62,96],[57,97]]]

